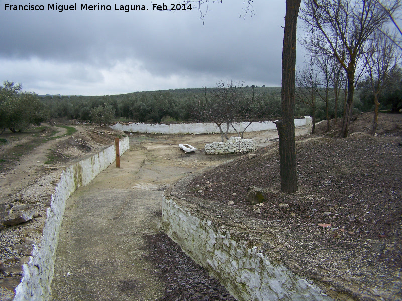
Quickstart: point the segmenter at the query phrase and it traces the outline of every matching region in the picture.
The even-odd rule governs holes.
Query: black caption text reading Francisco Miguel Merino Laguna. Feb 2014
[[[152,4],[152,10],[158,10],[158,11],[166,11],[166,10],[172,10],[172,11],[186,11],[192,10],[191,3],[189,5],[185,4],[170,4],[170,8],[168,8],[167,5],[164,3],[162,5],[157,5],[157,4]],[[62,13],[63,11],[77,11],[77,4],[70,4],[70,5],[62,5],[62,4],[57,4],[57,3],[49,3],[47,5],[47,10],[48,11],[57,11]],[[87,3],[81,3],[79,6],[81,11],[110,11],[112,10],[111,5],[101,5],[100,3],[95,4],[95,5],[88,5]],[[14,5],[14,4],[5,4],[5,11],[44,11],[45,6],[44,5],[35,5],[35,4],[30,4],[28,3],[27,5]],[[148,11],[148,9],[145,7],[145,5],[118,5],[115,3],[115,11],[125,11],[126,13],[130,11]]]

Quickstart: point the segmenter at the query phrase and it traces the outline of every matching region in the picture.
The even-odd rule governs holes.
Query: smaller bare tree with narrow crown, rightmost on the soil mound
[[[397,46],[384,35],[386,30],[374,32],[371,36],[368,51],[364,53],[366,60],[366,80],[369,81],[374,98],[374,119],[371,134],[375,134],[378,124],[379,97],[381,92],[392,83],[391,70],[396,68],[400,59]]]

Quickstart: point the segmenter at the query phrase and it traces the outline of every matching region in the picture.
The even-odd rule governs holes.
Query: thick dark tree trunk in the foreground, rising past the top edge
[[[282,50],[282,120],[276,121],[279,135],[280,180],[282,192],[298,190],[294,137],[297,17],[301,0],[286,0]]]

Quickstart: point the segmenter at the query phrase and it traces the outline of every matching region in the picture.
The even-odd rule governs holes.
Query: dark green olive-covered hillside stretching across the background
[[[333,82],[326,88],[318,81],[318,77],[314,81],[307,74],[311,77],[314,72],[306,72],[303,66],[299,66],[296,73],[297,102],[294,115],[312,116],[315,122],[327,119],[327,116],[329,119],[342,117],[347,89],[345,90],[344,86],[336,86]],[[402,70],[394,67],[388,74],[388,84],[378,94],[379,110],[399,113],[402,108]],[[233,103],[222,97],[228,89],[232,89],[232,96],[236,97],[231,100]],[[234,103],[237,106],[236,111]],[[91,121],[102,126],[117,121],[215,122],[211,114],[208,116],[206,111],[202,110],[207,104],[211,114],[216,110],[214,118],[222,119],[222,130],[225,133],[227,120],[238,122],[280,118],[281,88],[243,86],[240,82],[236,82],[235,87],[235,82],[222,81],[213,88],[171,89],[105,96],[41,96],[23,91],[22,84],[6,80],[0,86],[0,132],[6,129],[14,132],[24,131],[31,124],[39,125],[55,118]],[[354,114],[374,110],[374,94],[369,77],[363,77],[359,81],[353,104]],[[226,115],[223,114],[225,106]],[[219,118],[216,120],[221,120]]]

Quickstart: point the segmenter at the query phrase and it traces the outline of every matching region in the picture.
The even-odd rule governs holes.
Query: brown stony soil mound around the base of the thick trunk
[[[253,159],[242,156],[192,179],[188,193],[225,205],[233,201],[232,206],[245,217],[283,224],[285,236],[291,231],[303,243],[292,245],[292,252],[281,254],[281,259],[285,264],[297,262],[289,268],[301,275],[335,283],[323,276],[325,270],[334,268],[333,277],[363,283],[356,288],[362,295],[402,298],[400,287],[392,283],[402,268],[401,117],[380,114],[382,134],[375,136],[365,133],[371,130],[372,117],[363,114],[354,119],[354,133],[348,138],[336,138],[338,129],[331,135],[297,137],[296,193],[278,191],[277,145],[258,150]],[[324,126],[320,124],[318,131]],[[264,194],[259,210],[246,201],[252,185],[272,191]],[[322,256],[324,249],[334,255]],[[360,264],[349,267],[355,259]],[[346,286],[334,289],[345,290]],[[382,293],[383,289],[393,291],[393,298]],[[352,295],[359,299],[354,291]]]

